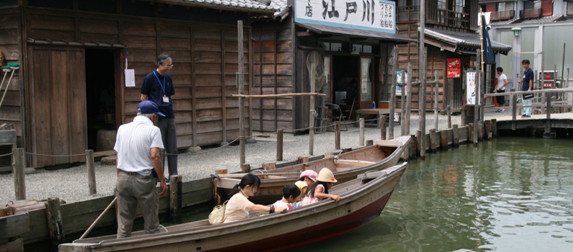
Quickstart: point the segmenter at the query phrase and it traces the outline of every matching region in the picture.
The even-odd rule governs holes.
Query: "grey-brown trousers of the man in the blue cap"
[[[159,195],[153,176],[120,171],[117,175],[117,238],[131,237],[139,204],[146,234],[159,233]]]

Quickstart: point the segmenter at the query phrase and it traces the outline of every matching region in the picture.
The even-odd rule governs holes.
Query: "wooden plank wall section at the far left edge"
[[[6,96],[0,108],[0,124],[11,124],[16,130],[19,145],[22,140],[22,35],[20,27],[21,14],[19,9],[0,9],[0,50],[2,50],[5,62],[4,65],[10,63],[18,63],[21,70],[17,70],[12,77],[10,86],[6,91]],[[4,77],[5,72],[0,72]],[[11,73],[7,73],[6,80],[3,83],[0,94],[6,90],[7,82]]]

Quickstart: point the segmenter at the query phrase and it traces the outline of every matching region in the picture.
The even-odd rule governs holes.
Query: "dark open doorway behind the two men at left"
[[[88,148],[109,151],[115,144],[115,50],[85,49]]]

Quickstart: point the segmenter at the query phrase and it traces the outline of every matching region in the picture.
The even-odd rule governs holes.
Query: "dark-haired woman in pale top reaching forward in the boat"
[[[255,204],[249,201],[249,197],[257,193],[261,180],[253,174],[246,174],[241,183],[236,184],[231,191],[231,198],[225,207],[225,220],[223,223],[234,222],[249,218],[249,211],[272,214],[275,211],[286,212],[286,207],[273,207]]]

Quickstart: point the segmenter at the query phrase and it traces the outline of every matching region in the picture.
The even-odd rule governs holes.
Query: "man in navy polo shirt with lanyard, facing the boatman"
[[[157,127],[161,131],[163,145],[168,154],[177,154],[177,137],[175,133],[175,113],[171,96],[175,94],[173,80],[168,74],[173,68],[171,57],[167,53],[159,54],[155,62],[157,69],[143,79],[141,100],[150,100],[159,106],[159,112],[165,117],[159,117]],[[161,160],[165,165],[165,156],[161,152]],[[177,156],[167,155],[169,175],[177,175]]]

